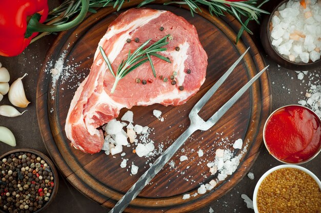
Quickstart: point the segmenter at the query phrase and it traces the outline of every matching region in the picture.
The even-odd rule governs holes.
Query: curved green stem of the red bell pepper
[[[75,27],[84,20],[89,9],[89,0],[81,0],[81,2],[82,9],[79,12],[78,16],[72,21],[63,23],[62,25],[44,25],[43,23],[40,23],[37,19],[31,18],[27,27],[28,33],[32,34],[35,32],[59,32],[69,30],[70,28]]]

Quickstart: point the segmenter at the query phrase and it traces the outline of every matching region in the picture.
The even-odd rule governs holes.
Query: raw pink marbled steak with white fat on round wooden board
[[[160,27],[164,30],[161,31]],[[154,78],[147,62],[119,81],[115,92],[111,94],[115,79],[99,52],[99,46],[105,50],[115,71],[126,59],[129,50],[133,52],[146,40],[151,38],[153,43],[168,34],[171,38],[166,45],[167,51],[160,54],[168,57],[172,63],[151,56],[157,78]],[[132,40],[130,43],[126,41],[128,38]],[[139,38],[139,42],[135,42],[135,38]],[[179,51],[175,50],[177,46]],[[204,83],[206,67],[207,55],[198,40],[196,29],[183,17],[169,11],[127,10],[111,23],[99,42],[90,73],[71,101],[65,126],[71,145],[83,152],[99,152],[104,135],[97,128],[117,117],[119,110],[124,107],[184,104]],[[187,74],[187,69],[191,70],[190,74]],[[172,85],[170,79],[168,82],[159,79],[160,75],[169,78],[173,72],[177,72],[176,85]],[[153,82],[143,85],[136,83],[136,78]],[[179,86],[184,86],[184,90],[179,90]]]

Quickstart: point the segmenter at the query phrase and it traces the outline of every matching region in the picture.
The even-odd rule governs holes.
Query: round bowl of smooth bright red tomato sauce
[[[321,119],[304,106],[280,107],[268,117],[263,139],[269,153],[280,162],[306,163],[321,151]]]

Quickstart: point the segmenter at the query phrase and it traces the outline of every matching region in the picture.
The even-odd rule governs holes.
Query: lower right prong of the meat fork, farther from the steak
[[[234,104],[235,102],[243,95],[243,93],[251,87],[251,85],[265,72],[269,67],[266,66],[258,74],[256,74],[248,83],[246,83],[240,90],[238,90],[234,96],[226,102],[222,107],[217,110],[209,120],[206,121],[207,127],[212,127]]]

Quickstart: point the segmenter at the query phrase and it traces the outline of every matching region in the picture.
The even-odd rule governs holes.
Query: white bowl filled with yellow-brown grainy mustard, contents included
[[[298,165],[278,165],[257,182],[255,213],[321,212],[321,181]]]

